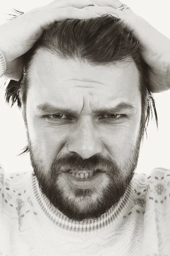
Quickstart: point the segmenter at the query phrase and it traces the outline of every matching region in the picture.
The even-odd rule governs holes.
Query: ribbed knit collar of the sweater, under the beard
[[[113,221],[118,222],[120,217],[123,218],[123,212],[126,211],[133,198],[133,182],[134,181],[132,179],[125,192],[125,195],[114,209],[109,209],[108,212],[105,212],[96,220],[72,221],[54,206],[50,205],[48,198],[46,198],[39,189],[37,178],[32,175],[34,196],[37,200],[37,204],[39,204],[39,207],[42,209],[42,213],[45,214],[51,220],[51,222],[58,227],[76,232],[99,230],[102,227],[106,227],[107,225],[111,224]]]

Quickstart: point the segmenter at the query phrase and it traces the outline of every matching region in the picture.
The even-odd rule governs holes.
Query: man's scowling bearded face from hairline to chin
[[[135,64],[92,67],[39,50],[30,83],[28,150],[42,193],[72,220],[100,217],[125,194],[138,160],[141,95]],[[54,110],[45,111],[45,104]],[[83,170],[97,172],[91,180],[70,173]]]

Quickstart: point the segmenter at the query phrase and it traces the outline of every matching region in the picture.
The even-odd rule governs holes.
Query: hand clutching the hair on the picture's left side
[[[97,17],[83,7],[95,3],[87,0],[55,0],[35,8],[0,26],[0,49],[6,59],[5,77],[19,81],[23,73],[23,54],[31,49],[42,32],[53,22]]]

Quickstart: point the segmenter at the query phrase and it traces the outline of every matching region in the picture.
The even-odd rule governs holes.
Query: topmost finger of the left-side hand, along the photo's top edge
[[[42,6],[41,9],[52,10],[57,8],[66,8],[69,6],[81,9],[88,6],[89,4],[94,4],[94,6],[97,6],[96,3],[87,0],[55,0],[46,6]]]

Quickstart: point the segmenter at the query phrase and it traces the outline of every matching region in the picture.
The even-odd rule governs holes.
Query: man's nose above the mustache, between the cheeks
[[[83,121],[71,134],[68,151],[76,152],[83,159],[88,159],[94,154],[102,153],[102,143],[95,125],[90,121]]]

